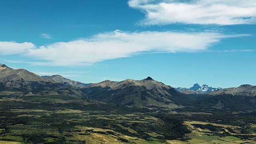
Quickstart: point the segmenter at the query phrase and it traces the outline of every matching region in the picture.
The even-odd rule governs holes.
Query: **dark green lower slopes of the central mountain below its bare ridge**
[[[156,93],[154,90],[148,90],[146,87],[129,86],[126,88],[111,90],[109,87],[89,87],[83,88],[84,92],[90,98],[108,102],[112,104],[124,104],[128,106],[166,106],[169,104],[182,105],[185,102],[194,100],[186,94],[181,94],[174,89],[164,89],[168,94]],[[170,96],[172,94],[172,96]]]

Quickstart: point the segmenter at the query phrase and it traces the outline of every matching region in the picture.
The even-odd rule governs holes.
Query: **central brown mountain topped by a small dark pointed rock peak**
[[[152,78],[142,80],[126,79],[120,82],[105,80],[86,86],[82,91],[90,98],[129,106],[178,108],[183,101],[190,99],[188,95],[182,94],[171,86]]]

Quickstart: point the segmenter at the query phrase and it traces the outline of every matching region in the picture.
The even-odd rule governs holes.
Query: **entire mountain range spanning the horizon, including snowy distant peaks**
[[[256,86],[251,85],[220,89],[194,84],[192,88],[184,90],[167,86],[151,77],[84,84],[60,75],[38,76],[24,69],[14,70],[4,64],[0,65],[0,95],[12,100],[29,99],[29,102],[92,100],[142,108],[197,106],[240,110],[256,107]]]

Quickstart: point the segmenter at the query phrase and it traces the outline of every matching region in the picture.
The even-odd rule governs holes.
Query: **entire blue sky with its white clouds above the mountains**
[[[256,85],[254,0],[1,0],[0,63],[80,82]]]

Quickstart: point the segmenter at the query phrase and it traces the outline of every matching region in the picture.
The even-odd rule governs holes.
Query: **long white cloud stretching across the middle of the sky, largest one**
[[[224,35],[217,32],[122,32],[95,35],[70,42],[56,42],[29,49],[27,56],[44,60],[43,64],[73,66],[124,58],[141,52],[196,52],[206,50]],[[45,61],[47,61],[45,63]]]

